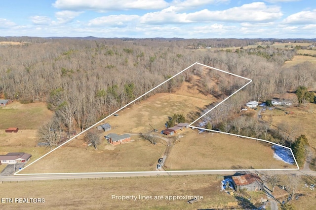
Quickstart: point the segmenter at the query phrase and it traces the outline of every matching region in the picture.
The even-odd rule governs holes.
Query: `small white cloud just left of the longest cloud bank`
[[[136,22],[139,18],[138,15],[109,15],[90,20],[88,26],[126,27],[128,23]]]

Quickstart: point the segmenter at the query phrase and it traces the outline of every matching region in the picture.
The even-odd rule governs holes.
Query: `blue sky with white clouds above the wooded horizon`
[[[1,0],[0,37],[316,38],[315,0]]]

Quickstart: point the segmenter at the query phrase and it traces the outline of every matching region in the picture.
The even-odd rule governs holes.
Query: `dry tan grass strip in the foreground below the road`
[[[107,180],[58,180],[3,183],[5,198],[44,198],[45,203],[0,203],[5,210],[192,210],[238,207],[233,196],[221,189],[222,176],[180,176]],[[115,200],[115,196],[152,196],[152,200]],[[192,205],[188,200],[168,201],[165,196],[203,196]],[[163,196],[155,200],[155,196]],[[2,196],[3,197],[3,196]],[[263,196],[264,197],[264,196]]]

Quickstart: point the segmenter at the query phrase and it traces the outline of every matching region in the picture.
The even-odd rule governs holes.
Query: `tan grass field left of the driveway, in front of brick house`
[[[103,140],[98,150],[95,150],[92,146],[87,147],[83,140],[74,139],[21,173],[156,170],[157,161],[166,147],[165,142],[159,141],[153,145],[138,136],[132,136],[132,140],[116,146]]]

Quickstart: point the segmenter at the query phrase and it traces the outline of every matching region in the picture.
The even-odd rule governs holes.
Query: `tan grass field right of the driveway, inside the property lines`
[[[236,136],[188,130],[172,147],[167,170],[297,168],[276,160],[272,144]]]

